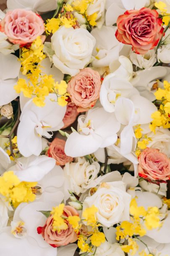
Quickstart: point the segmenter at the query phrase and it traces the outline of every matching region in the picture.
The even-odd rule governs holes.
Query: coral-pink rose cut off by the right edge
[[[147,147],[139,155],[139,176],[150,181],[170,179],[170,159],[159,151]]]

